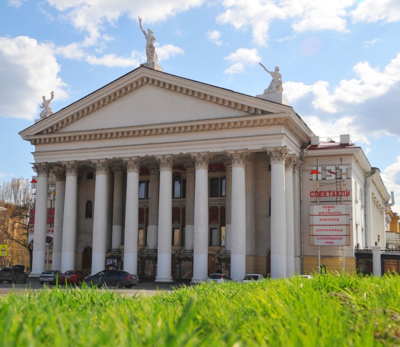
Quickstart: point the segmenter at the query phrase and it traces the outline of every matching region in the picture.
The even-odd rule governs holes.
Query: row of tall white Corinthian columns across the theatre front
[[[271,158],[271,277],[286,276],[294,272],[294,219],[292,172],[296,159],[287,154],[286,147],[267,150]],[[226,167],[226,250],[231,251],[231,277],[241,279],[245,274],[245,170],[247,150],[227,151],[231,162]],[[207,277],[208,262],[208,152],[193,153],[193,163],[186,168],[186,227],[185,248],[193,249],[192,282]],[[172,281],[171,277],[171,230],[172,221],[172,166],[173,155],[159,155],[159,184],[156,166],[150,170],[150,199],[148,248],[158,246],[156,281]],[[138,181],[141,158],[123,158],[127,168],[124,270],[135,273],[137,268]],[[108,160],[92,160],[96,166],[93,213],[92,273],[104,267],[106,253],[107,172]],[[61,271],[74,268],[77,223],[77,172],[78,163],[63,162],[62,171],[56,174],[57,203],[54,217],[53,268]],[[37,172],[36,218],[32,273],[43,269],[45,255],[46,196],[49,167],[47,163],[35,164]],[[121,244],[122,167],[113,167],[114,198],[112,223],[112,248]],[[64,179],[65,177],[65,179]],[[194,182],[194,184],[193,184]],[[285,186],[286,183],[286,186]],[[65,191],[67,192],[65,194]],[[157,204],[154,203],[158,200]],[[153,203],[151,203],[153,202]],[[289,203],[287,203],[289,202]],[[43,213],[40,211],[43,210]],[[62,226],[61,226],[62,225]],[[43,232],[41,232],[43,230]],[[62,240],[60,242],[59,240]],[[230,247],[230,249],[229,249]]]

